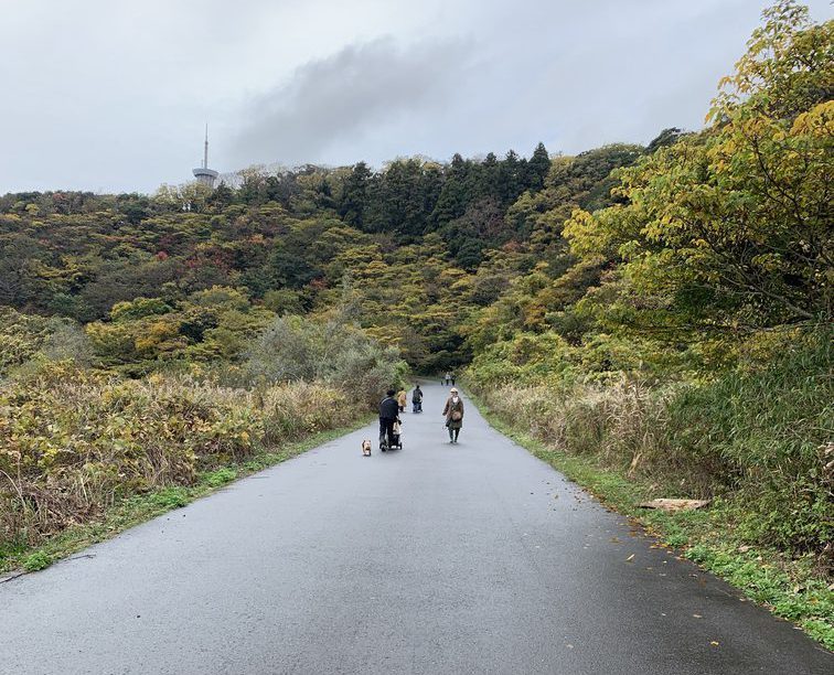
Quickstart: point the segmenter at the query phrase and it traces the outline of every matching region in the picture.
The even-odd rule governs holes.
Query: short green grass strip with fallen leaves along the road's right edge
[[[595,497],[702,568],[728,581],[777,617],[792,621],[834,651],[834,583],[819,574],[811,556],[791,558],[774,549],[745,545],[735,535],[738,506],[715,500],[709,508],[666,513],[640,508],[650,486],[621,471],[599,467],[592,457],[568,454],[507,424],[470,393],[492,427],[564,473]]]

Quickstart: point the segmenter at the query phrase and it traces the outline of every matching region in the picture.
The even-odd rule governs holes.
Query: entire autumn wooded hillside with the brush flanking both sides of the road
[[[704,128],[648,146],[0,196],[0,569],[453,368],[713,500],[694,557],[772,551],[808,579],[782,614],[833,640],[833,63],[834,22],[780,0]]]

